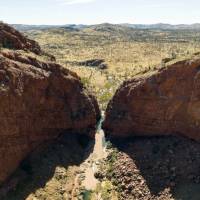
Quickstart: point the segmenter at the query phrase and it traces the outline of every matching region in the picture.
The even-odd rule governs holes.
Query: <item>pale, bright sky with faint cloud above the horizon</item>
[[[12,24],[200,23],[200,0],[0,0]]]

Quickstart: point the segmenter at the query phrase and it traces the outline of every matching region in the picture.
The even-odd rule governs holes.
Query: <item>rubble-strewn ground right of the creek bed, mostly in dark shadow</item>
[[[200,144],[177,136],[117,138],[111,180],[120,199],[198,200]],[[108,156],[109,158],[109,156]],[[114,161],[113,161],[114,160]]]

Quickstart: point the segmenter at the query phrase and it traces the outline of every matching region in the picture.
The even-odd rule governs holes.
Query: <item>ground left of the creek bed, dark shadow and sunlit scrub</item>
[[[72,174],[67,174],[68,169],[79,166],[93,146],[92,139],[74,134],[67,134],[51,144],[43,145],[22,162],[9,182],[1,188],[3,193],[4,188],[18,182],[13,190],[0,199],[23,200],[36,192],[38,199],[63,199],[66,183],[72,179]]]

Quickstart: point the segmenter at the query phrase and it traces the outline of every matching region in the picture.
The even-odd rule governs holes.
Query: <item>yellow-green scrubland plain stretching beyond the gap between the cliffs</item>
[[[136,30],[104,24],[25,34],[55,55],[60,64],[75,71],[96,94],[102,109],[124,80],[200,51],[198,30]],[[107,69],[76,64],[90,59],[104,59]]]

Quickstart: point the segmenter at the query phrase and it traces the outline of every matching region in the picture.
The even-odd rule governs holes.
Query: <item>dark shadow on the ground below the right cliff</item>
[[[113,143],[128,157],[127,170],[131,165],[139,170],[153,199],[165,199],[159,195],[166,188],[176,200],[200,199],[199,143],[182,137],[136,137]]]

